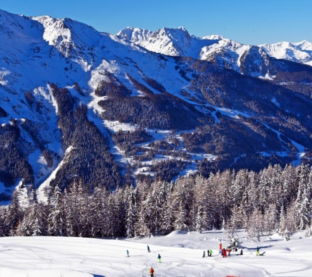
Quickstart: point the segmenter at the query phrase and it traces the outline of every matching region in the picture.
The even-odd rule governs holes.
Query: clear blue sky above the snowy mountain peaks
[[[222,35],[248,44],[312,41],[312,0],[7,0],[0,8],[26,16],[70,17],[98,31],[126,26],[184,26],[195,36]]]

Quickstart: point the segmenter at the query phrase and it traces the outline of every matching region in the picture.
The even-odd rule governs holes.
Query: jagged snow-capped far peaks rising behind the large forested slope
[[[287,43],[283,46],[285,49],[280,49],[285,43],[245,45],[219,35],[196,37],[184,27],[164,27],[154,32],[127,27],[117,35],[155,53],[207,60],[241,74],[266,78],[275,75],[270,70],[270,64],[274,63],[270,57],[310,64],[312,55],[312,46],[307,41],[293,46]]]

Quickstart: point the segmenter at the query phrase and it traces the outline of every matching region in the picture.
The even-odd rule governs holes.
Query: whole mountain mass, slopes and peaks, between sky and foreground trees
[[[117,35],[0,10],[0,195],[308,163],[311,43]],[[4,203],[4,202],[3,202]]]

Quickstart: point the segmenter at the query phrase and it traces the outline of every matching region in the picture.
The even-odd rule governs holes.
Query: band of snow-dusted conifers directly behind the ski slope
[[[27,206],[20,205],[15,191],[0,210],[0,235],[130,238],[225,228],[230,237],[245,229],[259,240],[277,231],[286,239],[298,230],[312,233],[309,165],[270,165],[259,173],[225,170],[170,183],[142,181],[115,191],[90,187],[81,179],[63,191],[56,185],[48,203],[38,201],[32,190]]]

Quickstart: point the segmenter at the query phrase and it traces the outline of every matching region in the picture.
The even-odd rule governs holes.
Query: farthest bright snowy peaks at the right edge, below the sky
[[[312,65],[312,43],[309,41],[282,41],[273,44],[263,44],[260,47],[276,59],[285,59]]]

